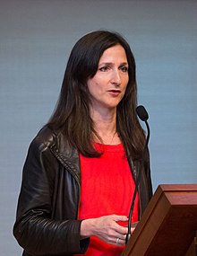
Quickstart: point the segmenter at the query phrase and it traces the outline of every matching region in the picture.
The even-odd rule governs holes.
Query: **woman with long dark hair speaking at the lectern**
[[[23,255],[120,255],[145,144],[133,53],[94,31],[69,57],[56,110],[30,144],[13,234]],[[149,154],[133,222],[151,195]]]

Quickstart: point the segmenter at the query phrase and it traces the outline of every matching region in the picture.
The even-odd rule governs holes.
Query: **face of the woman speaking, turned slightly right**
[[[108,48],[99,59],[97,73],[88,79],[91,107],[114,109],[123,99],[129,81],[128,62],[121,45]]]

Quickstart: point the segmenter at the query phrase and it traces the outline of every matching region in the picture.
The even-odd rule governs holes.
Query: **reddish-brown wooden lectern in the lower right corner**
[[[122,256],[195,256],[197,184],[159,185]]]

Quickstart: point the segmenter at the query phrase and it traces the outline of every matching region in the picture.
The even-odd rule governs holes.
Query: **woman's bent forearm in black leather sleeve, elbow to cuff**
[[[13,227],[13,234],[25,251],[41,255],[63,252],[80,253],[88,241],[80,241],[81,221],[55,221],[30,214],[23,216]]]

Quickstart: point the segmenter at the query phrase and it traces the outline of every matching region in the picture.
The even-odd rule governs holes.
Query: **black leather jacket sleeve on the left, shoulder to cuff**
[[[80,240],[81,220],[51,218],[55,164],[48,146],[35,139],[24,163],[13,225],[18,243],[32,255],[84,253],[89,244],[89,239]]]

